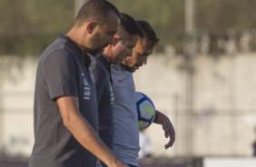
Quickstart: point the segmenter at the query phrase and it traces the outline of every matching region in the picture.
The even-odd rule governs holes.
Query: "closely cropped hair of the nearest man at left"
[[[78,11],[75,23],[83,25],[88,19],[103,22],[109,11],[113,11],[120,18],[118,9],[106,0],[88,0]]]

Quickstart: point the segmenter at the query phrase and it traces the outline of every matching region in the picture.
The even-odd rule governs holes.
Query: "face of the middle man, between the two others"
[[[112,64],[121,64],[125,57],[132,56],[133,47],[138,40],[137,35],[129,34],[123,28],[114,36],[113,44],[113,62]]]

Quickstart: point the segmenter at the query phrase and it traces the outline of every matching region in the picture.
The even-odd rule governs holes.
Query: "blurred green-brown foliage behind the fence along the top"
[[[185,0],[110,0],[121,12],[149,21],[161,38],[159,51],[172,44],[182,53]],[[0,54],[41,54],[74,22],[74,0],[1,0]],[[206,15],[207,14],[207,15]],[[197,0],[196,36],[215,38],[232,28],[236,36],[256,25],[254,0]]]

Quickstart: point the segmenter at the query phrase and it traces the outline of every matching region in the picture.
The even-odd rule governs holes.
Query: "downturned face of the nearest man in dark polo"
[[[119,23],[118,16],[110,11],[103,24],[95,26],[91,39],[92,54],[102,53],[105,46],[113,44],[113,35],[117,32]]]

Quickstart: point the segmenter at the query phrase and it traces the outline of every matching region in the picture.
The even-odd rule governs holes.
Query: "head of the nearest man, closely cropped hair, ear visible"
[[[103,51],[113,44],[113,35],[120,22],[118,9],[105,0],[87,1],[79,10],[68,35],[90,54]]]

